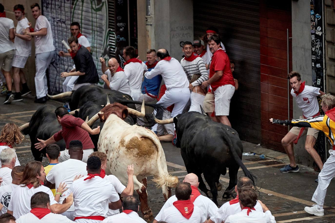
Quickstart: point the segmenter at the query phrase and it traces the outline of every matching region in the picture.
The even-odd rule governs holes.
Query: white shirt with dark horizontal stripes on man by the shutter
[[[197,57],[193,61],[186,61],[185,58],[183,58],[180,61],[180,64],[182,65],[189,82],[191,81],[194,74],[201,74],[201,76],[192,83],[193,87],[201,85],[202,82],[208,80],[206,66],[201,57]]]

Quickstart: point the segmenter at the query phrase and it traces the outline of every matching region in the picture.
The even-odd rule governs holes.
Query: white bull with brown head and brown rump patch
[[[128,177],[125,170],[127,165],[134,164],[134,190],[139,195],[144,219],[151,222],[153,215],[148,206],[146,178],[154,177],[153,181],[162,188],[165,200],[171,196],[171,188],[176,187],[178,178],[167,172],[165,154],[156,134],[144,127],[126,123],[124,119],[128,113],[144,117],[144,103],[141,112],[119,103],[107,105],[87,124],[92,125],[99,118],[105,122],[97,148],[107,154],[107,174],[115,175],[126,185]]]

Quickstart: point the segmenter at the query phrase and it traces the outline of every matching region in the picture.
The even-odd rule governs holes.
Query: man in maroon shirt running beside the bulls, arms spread
[[[62,129],[47,140],[38,138],[37,140],[40,142],[35,144],[35,148],[42,150],[47,145],[55,143],[64,138],[67,149],[61,151],[61,155],[59,156],[59,162],[62,162],[70,158],[68,150],[70,142],[72,140],[79,140],[83,144],[84,154],[82,161],[87,162],[88,156],[93,152],[94,148],[89,134],[98,134],[100,132],[100,126],[96,127],[95,129],[91,129],[84,120],[70,115],[67,109],[62,106],[56,108],[55,115],[59,124],[62,125]]]

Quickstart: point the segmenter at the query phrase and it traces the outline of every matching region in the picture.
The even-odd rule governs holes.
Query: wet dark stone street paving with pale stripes
[[[0,102],[4,97],[0,97]],[[50,100],[48,104],[61,106],[62,103]],[[28,96],[21,102],[12,102],[11,105],[0,106],[0,128],[8,122],[14,122],[22,125],[29,121],[32,114],[38,107],[43,105],[34,103],[34,98]],[[316,217],[309,215],[304,211],[305,206],[311,206],[312,195],[317,187],[314,180],[318,173],[312,168],[301,166],[298,173],[280,173],[279,168],[286,164],[287,157],[284,153],[269,150],[249,142],[243,142],[245,152],[256,152],[265,154],[266,159],[260,159],[258,155],[243,156],[243,162],[247,168],[257,176],[259,189],[259,199],[268,206],[277,222],[335,222],[335,181],[333,180],[328,188],[325,200],[325,216]],[[169,143],[162,143],[167,168],[170,174],[178,176],[180,180],[187,174],[183,159],[180,155],[180,149]],[[33,161],[30,151],[29,136],[26,135],[23,142],[16,148],[18,158],[22,165]],[[43,159],[43,164],[47,165],[47,159]],[[239,171],[239,177],[243,172]],[[161,189],[157,189],[154,182],[149,178],[148,181],[148,202],[154,216],[158,213],[164,204],[164,198]],[[228,186],[228,176],[220,178],[223,190]],[[219,192],[218,202],[221,206],[223,190]],[[174,194],[174,192],[173,192]],[[204,193],[202,193],[204,195]]]

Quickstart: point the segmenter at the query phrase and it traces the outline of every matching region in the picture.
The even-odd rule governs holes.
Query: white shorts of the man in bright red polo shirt
[[[226,84],[218,87],[214,91],[215,115],[229,115],[230,99],[235,92],[235,87],[231,84]]]

